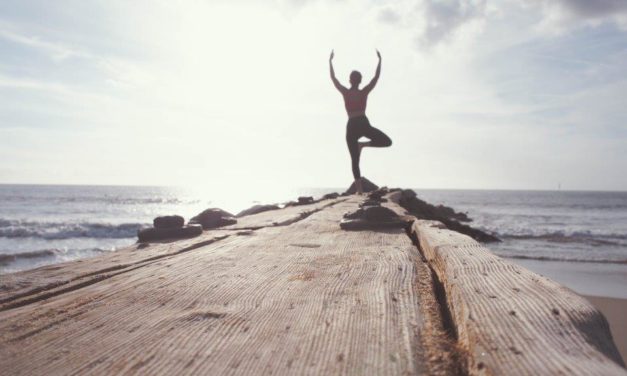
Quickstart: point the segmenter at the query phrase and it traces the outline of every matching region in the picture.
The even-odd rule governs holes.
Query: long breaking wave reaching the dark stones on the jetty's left
[[[47,240],[70,238],[125,239],[137,236],[137,230],[143,226],[146,226],[146,223],[31,222],[0,219],[0,237]]]

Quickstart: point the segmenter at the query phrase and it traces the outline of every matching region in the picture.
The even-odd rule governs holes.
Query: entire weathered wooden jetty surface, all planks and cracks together
[[[341,230],[362,201],[0,276],[0,369],[627,374],[585,299],[437,222]]]

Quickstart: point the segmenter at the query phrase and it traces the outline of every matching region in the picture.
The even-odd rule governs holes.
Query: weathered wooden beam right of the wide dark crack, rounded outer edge
[[[625,375],[603,315],[439,222],[413,233],[446,292],[470,374]]]

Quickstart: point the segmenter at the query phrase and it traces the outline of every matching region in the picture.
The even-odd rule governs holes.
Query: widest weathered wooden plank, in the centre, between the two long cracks
[[[336,201],[288,226],[222,230],[208,244],[5,306],[0,370],[430,373],[417,292],[418,272],[428,269],[403,230],[339,230],[341,215],[356,205]],[[143,251],[150,252],[128,252]]]

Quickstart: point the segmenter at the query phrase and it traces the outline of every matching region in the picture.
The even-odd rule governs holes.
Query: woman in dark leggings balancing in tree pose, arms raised
[[[359,171],[359,157],[361,155],[361,149],[366,146],[371,147],[388,147],[392,145],[392,140],[383,132],[370,125],[370,121],[366,117],[366,103],[368,101],[368,94],[374,89],[379,75],[381,74],[381,54],[377,50],[377,56],[379,58],[379,64],[377,65],[377,71],[368,85],[363,89],[359,89],[361,83],[361,73],[358,71],[352,71],[350,75],[351,88],[347,89],[335,77],[335,71],[333,70],[333,57],[334,51],[331,51],[329,57],[329,68],[331,69],[331,80],[333,85],[342,93],[344,97],[344,105],[346,112],[348,113],[348,123],[346,124],[346,144],[348,145],[348,151],[351,155],[351,163],[353,168],[353,177],[355,178],[355,189],[357,194],[362,194],[361,185],[361,172]],[[361,137],[370,139],[367,142],[359,142]]]

